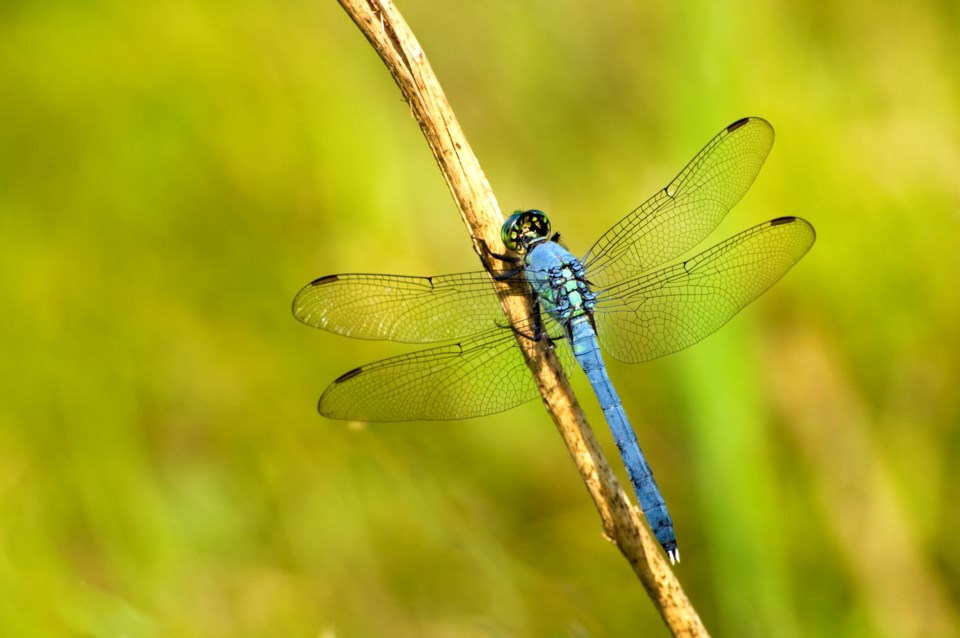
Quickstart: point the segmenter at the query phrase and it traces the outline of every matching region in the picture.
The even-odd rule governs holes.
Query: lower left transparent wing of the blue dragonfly
[[[568,367],[573,353],[555,342]],[[494,414],[538,396],[512,330],[383,359],[342,375],[320,414],[356,421],[445,421]]]

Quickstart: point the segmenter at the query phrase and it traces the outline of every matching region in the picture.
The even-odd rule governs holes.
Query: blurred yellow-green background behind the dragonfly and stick
[[[958,635],[957,3],[400,9],[501,205],[575,253],[773,123],[712,240],[800,215],[813,250],[696,347],[610,362],[677,573],[718,636]],[[4,0],[0,264],[3,636],[667,634],[538,403],[317,415],[412,348],[300,325],[300,286],[479,267],[332,0]]]

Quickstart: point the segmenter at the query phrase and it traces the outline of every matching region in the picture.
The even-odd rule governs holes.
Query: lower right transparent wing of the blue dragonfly
[[[805,220],[781,217],[682,263],[598,290],[594,316],[600,343],[627,363],[682,350],[763,294],[815,238]]]

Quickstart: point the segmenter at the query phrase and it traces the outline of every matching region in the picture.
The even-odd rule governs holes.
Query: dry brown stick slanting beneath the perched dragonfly
[[[503,215],[490,184],[460,129],[427,57],[391,0],[338,0],[380,55],[410,105],[450,187],[474,249],[491,270],[487,246],[500,247]],[[530,317],[530,302],[508,295],[494,281],[514,324]],[[674,636],[707,636],[696,610],[664,559],[660,546],[620,488],[547,340],[519,338],[547,411],[593,497],[607,538],[616,543]]]

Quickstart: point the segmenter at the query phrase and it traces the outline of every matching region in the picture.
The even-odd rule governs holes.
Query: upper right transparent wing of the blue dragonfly
[[[703,241],[750,188],[773,146],[773,127],[729,125],[666,188],[608,230],[583,262],[602,287],[659,266]]]

